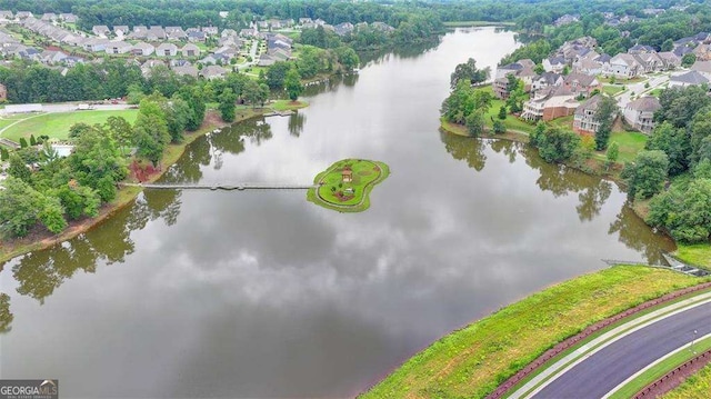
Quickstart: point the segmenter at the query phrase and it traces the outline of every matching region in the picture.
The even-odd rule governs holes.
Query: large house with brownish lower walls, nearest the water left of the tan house
[[[532,99],[523,103],[521,118],[549,121],[573,114],[578,104],[572,91],[562,86],[551,86],[537,91]]]

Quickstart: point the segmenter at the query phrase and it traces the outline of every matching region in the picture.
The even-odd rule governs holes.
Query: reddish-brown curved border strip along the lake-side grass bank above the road
[[[657,299],[652,299],[649,300],[647,302],[640,303],[633,308],[630,308],[628,310],[624,310],[620,313],[617,313],[614,316],[611,316],[604,320],[598,321],[589,327],[587,327],[582,332],[579,332],[575,336],[572,336],[570,338],[567,338],[565,340],[563,340],[562,342],[555,345],[553,348],[547,350],[545,352],[543,352],[543,355],[539,356],[535,360],[533,360],[532,362],[530,362],[529,365],[527,365],[523,369],[519,370],[515,375],[513,375],[512,377],[510,377],[509,379],[507,379],[503,383],[501,383],[493,392],[489,393],[487,396],[487,399],[499,399],[501,397],[503,397],[511,388],[513,388],[517,383],[521,382],[523,379],[525,379],[527,377],[529,377],[531,373],[533,373],[534,371],[537,371],[541,366],[543,366],[547,361],[549,361],[550,359],[552,359],[553,357],[560,355],[562,351],[569,349],[570,347],[574,346],[575,343],[580,342],[581,340],[590,337],[592,333],[610,326],[613,325],[627,317],[630,317],[634,313],[638,313],[642,310],[649,309],[651,307],[664,303],[664,302],[669,302],[671,300],[674,300],[679,297],[683,297],[685,295],[692,293],[692,292],[697,292],[697,291],[701,291],[704,289],[711,288],[711,281],[710,282],[704,282],[704,283],[700,283],[693,287],[687,287],[684,289],[674,291],[674,292],[670,292],[667,293],[664,296],[661,296]]]

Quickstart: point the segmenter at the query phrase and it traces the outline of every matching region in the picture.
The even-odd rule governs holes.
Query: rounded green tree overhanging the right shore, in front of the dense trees
[[[622,179],[629,198],[647,199],[661,191],[669,170],[669,158],[663,151],[640,151],[634,163],[625,164]]]

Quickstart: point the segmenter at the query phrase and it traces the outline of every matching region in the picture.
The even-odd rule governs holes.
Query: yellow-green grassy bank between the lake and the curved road
[[[587,326],[699,281],[668,270],[623,266],[560,283],[438,340],[362,397],[484,397]]]

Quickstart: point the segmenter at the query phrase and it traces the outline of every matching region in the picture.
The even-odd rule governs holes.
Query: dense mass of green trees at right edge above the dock
[[[632,199],[650,199],[647,222],[682,242],[711,235],[711,99],[707,87],[662,91],[657,127],[623,170]],[[671,183],[670,183],[671,181]]]

